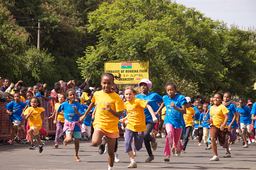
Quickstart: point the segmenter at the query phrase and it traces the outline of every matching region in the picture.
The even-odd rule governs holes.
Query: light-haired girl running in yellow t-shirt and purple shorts
[[[126,129],[125,129],[125,147],[124,151],[128,153],[131,159],[131,163],[127,166],[129,167],[137,167],[137,163],[134,159],[133,151],[132,151],[132,139],[134,137],[134,148],[136,150],[140,150],[143,143],[144,131],[147,130],[145,123],[145,114],[144,108],[148,109],[153,122],[156,123],[158,120],[155,117],[154,111],[151,106],[147,104],[147,101],[143,99],[134,98],[134,89],[131,86],[127,86],[124,88],[124,96],[126,98],[125,109],[127,110],[127,115],[125,118],[120,119],[120,122],[125,122],[128,119]]]

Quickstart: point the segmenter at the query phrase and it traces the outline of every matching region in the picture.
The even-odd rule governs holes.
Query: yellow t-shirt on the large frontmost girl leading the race
[[[124,102],[116,93],[104,93],[103,90],[94,93],[92,102],[98,104],[95,112],[94,128],[102,128],[103,130],[115,133],[119,132],[119,118],[106,110],[106,105],[109,104],[114,111],[125,110]]]

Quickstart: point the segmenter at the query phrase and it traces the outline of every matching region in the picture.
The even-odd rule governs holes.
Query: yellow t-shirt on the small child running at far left
[[[37,107],[36,109],[33,107],[29,107],[25,110],[24,115],[28,115],[31,110],[34,110],[33,113],[29,116],[29,126],[32,127],[37,125],[39,129],[41,129],[43,123],[41,119],[41,113],[44,111],[43,107]]]

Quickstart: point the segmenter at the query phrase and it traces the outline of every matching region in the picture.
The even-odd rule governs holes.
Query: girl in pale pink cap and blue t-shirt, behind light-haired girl
[[[150,80],[142,79],[139,82],[139,87],[142,93],[136,95],[135,98],[146,100],[147,104],[152,107],[154,112],[156,112],[157,109],[159,108],[157,102],[161,103],[162,97],[157,93],[149,92],[149,90],[151,89],[151,86],[152,86],[152,83]],[[144,113],[146,117],[147,130],[144,131],[143,139],[144,139],[145,147],[147,149],[147,153],[149,155],[149,157],[145,160],[145,162],[151,162],[154,159],[154,155],[152,153],[151,147],[153,150],[155,150],[157,147],[157,144],[156,144],[155,138],[150,135],[150,132],[154,129],[154,126],[156,123],[153,122],[153,118],[148,109],[145,108]],[[161,113],[160,113],[160,117],[158,116],[158,114],[156,114],[155,116],[157,119],[161,120]],[[150,142],[151,142],[151,147],[150,147]]]

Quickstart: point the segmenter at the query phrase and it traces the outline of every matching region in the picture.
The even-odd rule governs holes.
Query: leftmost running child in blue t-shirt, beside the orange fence
[[[23,130],[24,133],[26,133],[26,129],[24,128],[24,125],[19,125],[21,124],[22,120],[22,111],[26,107],[26,103],[21,102],[21,94],[20,93],[15,93],[14,94],[14,101],[8,103],[5,108],[7,109],[7,113],[10,114],[10,122],[13,124],[12,132],[11,132],[11,137],[10,140],[7,142],[9,144],[13,143],[13,138],[15,133],[20,131],[21,129]]]

